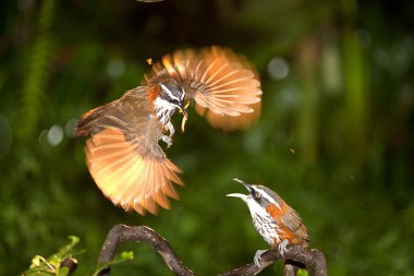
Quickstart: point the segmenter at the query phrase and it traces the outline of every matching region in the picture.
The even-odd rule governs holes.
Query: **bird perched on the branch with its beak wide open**
[[[248,184],[238,178],[248,194],[231,193],[227,196],[240,197],[247,204],[253,225],[264,240],[272,248],[279,247],[281,255],[288,244],[299,244],[307,248],[310,243],[306,226],[300,215],[289,206],[276,192],[264,185]],[[258,250],[255,263],[260,267],[260,255],[265,250]]]

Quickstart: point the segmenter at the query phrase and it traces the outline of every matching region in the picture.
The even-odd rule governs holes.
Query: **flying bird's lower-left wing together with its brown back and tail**
[[[169,208],[167,196],[179,199],[180,169],[158,145],[161,128],[146,110],[147,87],[137,87],[119,100],[85,113],[76,128],[86,142],[89,172],[115,205],[156,214]]]

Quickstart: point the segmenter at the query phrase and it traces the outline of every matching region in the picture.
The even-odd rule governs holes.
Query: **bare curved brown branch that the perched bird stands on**
[[[194,273],[187,268],[176,256],[170,244],[156,231],[146,227],[129,227],[125,225],[115,225],[109,231],[104,247],[100,251],[98,263],[105,264],[113,260],[118,247],[127,241],[144,242],[155,248],[162,256],[167,266],[179,276],[193,276]],[[324,253],[315,249],[304,249],[301,245],[287,245],[283,256],[278,248],[269,249],[261,254],[260,267],[254,262],[234,268],[230,272],[220,274],[219,276],[238,276],[238,275],[257,275],[264,268],[272,264],[277,260],[288,260],[287,264],[294,267],[301,267],[303,264],[314,276],[327,276],[326,260]],[[292,274],[292,272],[290,272]],[[110,267],[104,268],[98,275],[109,276]]]

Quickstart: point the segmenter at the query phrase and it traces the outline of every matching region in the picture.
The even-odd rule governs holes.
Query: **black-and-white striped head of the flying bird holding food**
[[[184,87],[172,77],[160,81],[158,85],[160,92],[155,100],[158,118],[166,123],[175,109],[179,109],[183,113],[181,129],[184,131],[187,120]]]

